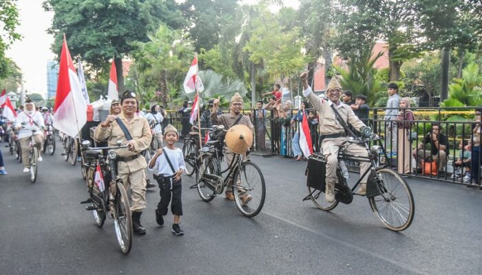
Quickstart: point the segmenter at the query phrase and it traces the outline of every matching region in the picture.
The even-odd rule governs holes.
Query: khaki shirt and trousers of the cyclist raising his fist
[[[335,112],[331,109],[331,104],[334,104],[330,100],[322,100],[318,98],[311,87],[308,87],[306,91],[303,91],[303,95],[308,98],[316,111],[319,112],[319,132],[322,135],[331,135],[337,133],[344,133],[345,129],[336,119]],[[353,110],[344,103],[339,103],[335,106],[342,120],[346,121],[359,131],[362,126],[366,126],[362,120],[353,113]],[[339,146],[346,141],[346,137],[324,138],[322,143],[323,155],[326,157],[326,183],[335,184],[337,181],[336,169],[338,164],[338,152]],[[349,144],[344,153],[347,155],[355,155],[361,157],[368,157],[366,148],[359,144]],[[366,170],[370,168],[370,162],[361,162],[360,175],[363,175]],[[361,183],[366,183],[368,174],[362,179]]]

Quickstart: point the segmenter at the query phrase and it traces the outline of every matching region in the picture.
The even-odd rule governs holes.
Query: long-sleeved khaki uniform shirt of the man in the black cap
[[[149,147],[151,144],[152,133],[151,129],[149,128],[149,122],[147,122],[145,118],[134,115],[134,118],[132,118],[132,120],[129,122],[123,113],[117,117],[122,120],[127,130],[131,134],[132,139],[135,141],[134,151],[129,151],[127,148],[116,149],[119,157],[138,155],[141,151]],[[127,142],[127,138],[125,137],[121,126],[117,124],[116,120],[114,120],[114,122],[112,122],[108,127],[103,127],[101,124],[99,124],[94,132],[94,138],[96,140],[107,139],[109,146],[116,146],[117,140],[122,140],[123,144]],[[118,162],[118,170],[120,174],[136,172],[137,170],[144,169],[146,167],[147,163],[142,155],[136,159],[129,160],[128,162]]]

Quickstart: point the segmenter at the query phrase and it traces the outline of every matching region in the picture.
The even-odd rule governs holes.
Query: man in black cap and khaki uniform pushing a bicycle
[[[146,175],[147,162],[140,155],[151,144],[151,129],[145,118],[136,115],[137,111],[136,94],[126,91],[121,99],[122,113],[119,115],[107,115],[96,128],[94,137],[96,140],[106,140],[109,146],[116,146],[117,140],[127,144],[127,148],[116,149],[118,155],[118,176],[123,180],[124,186],[130,186],[132,191],[132,229],[136,234],[145,234],[145,228],[140,224],[140,215],[146,208]],[[118,120],[116,120],[118,118]],[[121,128],[125,125],[127,133]],[[129,139],[127,136],[131,136]]]

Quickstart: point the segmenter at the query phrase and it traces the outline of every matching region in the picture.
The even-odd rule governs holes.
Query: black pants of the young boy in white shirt
[[[169,206],[169,201],[170,201],[172,214],[182,216],[181,179],[179,179],[178,181],[174,181],[172,177],[159,176],[156,178],[156,180],[159,184],[159,189],[160,189],[159,190],[160,201],[157,205],[157,210],[159,214],[162,214],[163,216],[167,214],[167,207]],[[171,181],[172,181],[172,190],[171,190]]]

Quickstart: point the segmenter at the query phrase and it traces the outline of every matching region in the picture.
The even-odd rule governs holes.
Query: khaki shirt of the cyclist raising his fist
[[[331,105],[334,104],[333,102],[318,98],[311,90],[311,87],[308,87],[308,89],[303,91],[303,95],[310,100],[310,103],[315,110],[319,112],[319,133],[322,135],[331,135],[334,133],[343,133],[345,131],[343,126],[339,124],[336,119],[335,112],[331,109]],[[335,106],[335,108],[342,117],[342,120],[348,122],[347,124],[353,126],[355,130],[359,131],[360,128],[366,126],[362,120],[359,120],[357,115],[353,113],[353,110],[347,104],[339,101],[338,106]]]

